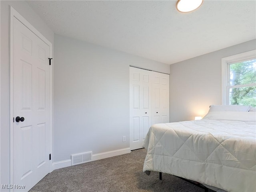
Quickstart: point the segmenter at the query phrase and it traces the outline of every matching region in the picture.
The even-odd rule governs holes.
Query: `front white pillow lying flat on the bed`
[[[256,122],[256,112],[214,111],[208,112],[203,119]]]

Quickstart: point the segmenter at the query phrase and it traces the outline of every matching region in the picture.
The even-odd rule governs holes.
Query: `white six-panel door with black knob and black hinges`
[[[50,172],[50,47],[16,18],[13,42],[13,182],[28,191]]]

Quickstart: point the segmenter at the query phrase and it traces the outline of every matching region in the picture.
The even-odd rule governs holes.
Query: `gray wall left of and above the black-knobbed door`
[[[53,43],[54,33],[24,1],[0,1],[1,4],[1,184],[9,184],[10,177],[10,6],[18,11],[42,35]]]

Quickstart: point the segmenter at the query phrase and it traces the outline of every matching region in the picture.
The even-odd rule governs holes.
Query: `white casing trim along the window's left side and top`
[[[224,57],[221,59],[221,90],[222,90],[222,105],[229,105],[229,64],[234,62],[239,62],[243,60],[250,60],[256,57],[256,49],[252,51],[247,51],[237,55],[232,55],[229,57]],[[248,86],[256,86],[256,83],[250,84]],[[232,86],[234,87],[234,86]]]

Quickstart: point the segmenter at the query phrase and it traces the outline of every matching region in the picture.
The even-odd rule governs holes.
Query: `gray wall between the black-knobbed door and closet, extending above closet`
[[[129,65],[170,66],[60,35],[54,47],[54,162],[129,147]]]

